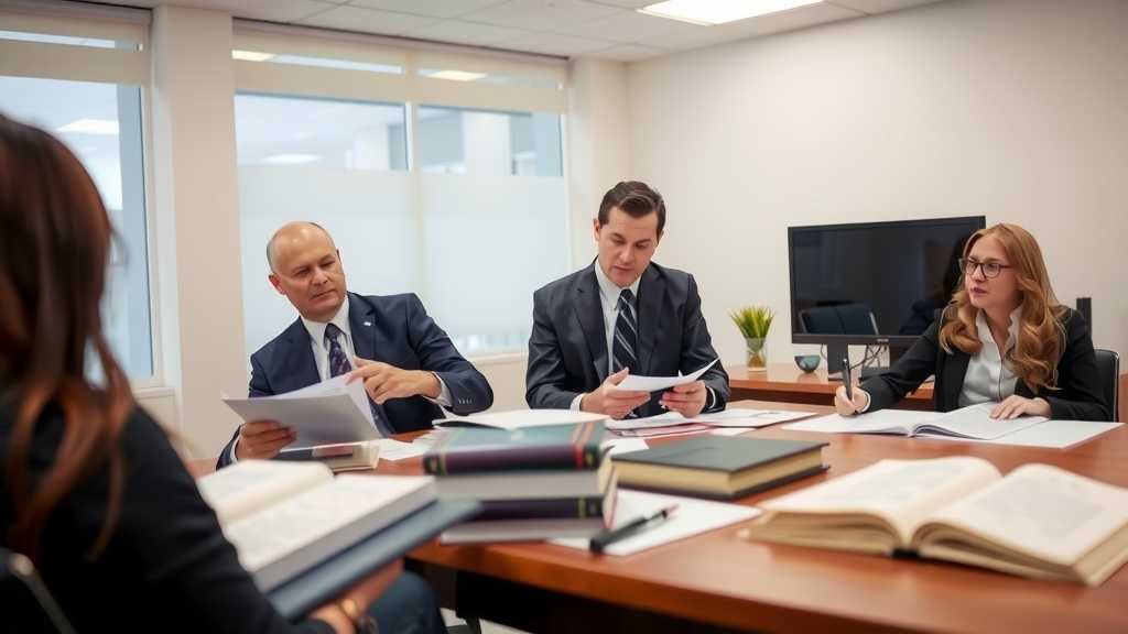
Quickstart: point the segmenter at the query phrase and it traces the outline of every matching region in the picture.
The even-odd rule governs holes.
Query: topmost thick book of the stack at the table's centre
[[[599,468],[603,423],[515,430],[457,428],[423,456],[429,474]]]

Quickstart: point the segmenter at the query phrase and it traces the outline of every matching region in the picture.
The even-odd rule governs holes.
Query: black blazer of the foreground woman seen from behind
[[[15,412],[14,398],[0,403],[3,464]],[[32,438],[33,481],[50,468],[62,437],[62,415],[49,406]],[[87,549],[106,513],[106,465],[59,502],[39,536],[39,573],[76,631],[333,632],[319,620],[291,624],[274,610],[239,564],[164,430],[142,410],[130,415],[118,444],[125,486],[116,529],[102,556],[90,560]],[[0,470],[0,544],[8,546],[14,518],[3,478]],[[33,609],[3,610],[0,629],[24,631],[18,618]]]

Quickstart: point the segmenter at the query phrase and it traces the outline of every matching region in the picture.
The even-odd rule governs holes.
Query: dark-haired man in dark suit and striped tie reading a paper
[[[651,262],[664,228],[666,203],[645,183],[619,183],[603,195],[593,221],[599,256],[532,296],[530,407],[614,419],[724,408],[729,376],[720,363],[702,380],[653,396],[615,387],[628,373],[689,373],[717,356],[693,275]]]

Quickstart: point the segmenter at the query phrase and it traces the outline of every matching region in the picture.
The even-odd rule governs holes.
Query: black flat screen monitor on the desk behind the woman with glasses
[[[986,217],[790,227],[793,343],[908,347],[960,281],[959,258]],[[857,361],[857,360],[853,360]]]

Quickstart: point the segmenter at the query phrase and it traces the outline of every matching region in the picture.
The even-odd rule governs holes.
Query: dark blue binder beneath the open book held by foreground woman
[[[393,562],[443,530],[482,511],[475,501],[438,501],[342,551],[267,596],[282,616],[296,620],[334,599],[365,575]]]

